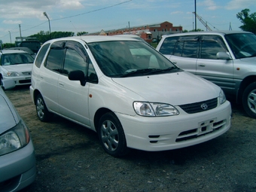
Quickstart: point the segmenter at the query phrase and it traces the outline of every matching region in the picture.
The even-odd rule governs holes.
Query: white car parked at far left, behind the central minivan
[[[0,81],[14,81],[15,86],[31,84],[34,58],[23,50],[0,50]],[[3,87],[5,88],[5,87]]]

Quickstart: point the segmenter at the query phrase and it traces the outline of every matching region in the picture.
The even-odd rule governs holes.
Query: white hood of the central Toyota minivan
[[[189,72],[113,78],[122,87],[142,96],[148,102],[182,105],[202,102],[219,96],[221,88]]]

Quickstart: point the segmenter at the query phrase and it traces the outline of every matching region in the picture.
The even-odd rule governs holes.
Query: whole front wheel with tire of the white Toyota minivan
[[[121,157],[129,152],[123,127],[118,118],[111,112],[103,114],[99,120],[99,141],[107,154]]]

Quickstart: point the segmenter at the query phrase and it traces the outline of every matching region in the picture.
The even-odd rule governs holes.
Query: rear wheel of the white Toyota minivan
[[[36,97],[35,110],[38,114],[39,120],[41,120],[42,122],[47,122],[48,120],[50,120],[50,112],[48,111],[41,94],[38,94],[38,96]]]

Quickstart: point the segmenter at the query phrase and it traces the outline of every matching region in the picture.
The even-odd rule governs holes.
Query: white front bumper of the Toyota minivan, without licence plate
[[[231,125],[230,102],[209,111],[179,115],[141,117],[117,114],[127,147],[144,151],[166,151],[197,145],[226,133]]]

